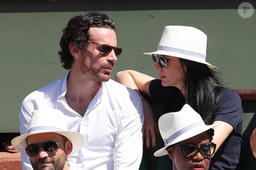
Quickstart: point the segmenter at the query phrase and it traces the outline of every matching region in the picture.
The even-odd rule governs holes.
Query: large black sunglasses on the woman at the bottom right
[[[216,149],[216,144],[212,142],[210,144],[204,144],[200,148],[197,148],[195,145],[174,145],[181,148],[181,153],[186,158],[193,158],[198,152],[200,152],[204,158],[210,158]]]

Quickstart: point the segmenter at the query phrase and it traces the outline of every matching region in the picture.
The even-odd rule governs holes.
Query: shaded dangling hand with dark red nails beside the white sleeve
[[[158,130],[157,123],[155,122],[152,109],[146,100],[142,101],[143,110],[144,110],[144,124],[143,124],[143,145],[146,141],[146,148],[150,148],[150,143],[152,148],[155,147],[156,142],[156,133],[160,134]],[[145,139],[144,139],[145,137]],[[150,142],[151,141],[151,142]]]

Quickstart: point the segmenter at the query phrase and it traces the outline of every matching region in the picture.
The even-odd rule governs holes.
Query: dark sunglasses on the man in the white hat
[[[36,156],[39,153],[40,148],[43,148],[47,153],[56,153],[59,149],[59,145],[66,141],[57,143],[55,141],[41,142],[37,144],[27,145],[25,150],[28,156]]]

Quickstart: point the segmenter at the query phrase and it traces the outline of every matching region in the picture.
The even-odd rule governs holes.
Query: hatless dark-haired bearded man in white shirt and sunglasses
[[[98,12],[73,17],[63,29],[60,47],[60,61],[70,72],[23,100],[20,133],[26,133],[34,110],[59,109],[68,117],[68,130],[85,139],[83,148],[68,157],[70,165],[87,170],[138,170],[143,105],[134,90],[110,80],[122,52],[113,20]],[[23,170],[30,170],[23,154],[22,161]]]

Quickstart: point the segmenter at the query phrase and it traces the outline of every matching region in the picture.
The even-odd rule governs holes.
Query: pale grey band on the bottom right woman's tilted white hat
[[[181,134],[184,134],[185,132],[187,132],[188,130],[194,129],[196,127],[200,127],[202,125],[205,125],[203,123],[203,121],[199,121],[196,123],[192,123],[190,125],[188,125],[187,127],[184,127],[178,131],[176,131],[175,133],[171,134],[169,137],[166,137],[164,142],[165,142],[165,146],[167,146],[169,143],[171,143],[174,139],[176,139],[177,137],[179,137]]]

